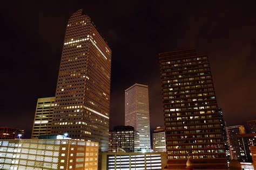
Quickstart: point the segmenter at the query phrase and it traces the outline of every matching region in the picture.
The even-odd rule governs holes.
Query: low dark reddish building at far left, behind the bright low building
[[[24,138],[24,130],[5,126],[0,127],[0,140],[22,138]]]

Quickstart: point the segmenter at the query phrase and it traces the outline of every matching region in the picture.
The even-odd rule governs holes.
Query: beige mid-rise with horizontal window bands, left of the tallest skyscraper
[[[38,98],[31,139],[51,133],[51,123],[55,97]]]

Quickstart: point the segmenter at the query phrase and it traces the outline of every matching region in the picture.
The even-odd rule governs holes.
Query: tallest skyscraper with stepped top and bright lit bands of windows
[[[99,142],[108,151],[111,49],[81,9],[66,25],[52,134]]]

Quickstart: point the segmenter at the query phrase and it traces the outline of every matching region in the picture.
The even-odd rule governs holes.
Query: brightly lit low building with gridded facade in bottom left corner
[[[71,139],[0,140],[0,169],[97,169],[98,147]]]

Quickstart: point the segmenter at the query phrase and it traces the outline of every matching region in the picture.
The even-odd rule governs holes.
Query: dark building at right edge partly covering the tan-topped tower
[[[256,146],[256,133],[239,134],[237,141],[241,154],[240,161],[252,162],[250,147]]]

